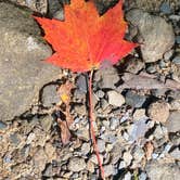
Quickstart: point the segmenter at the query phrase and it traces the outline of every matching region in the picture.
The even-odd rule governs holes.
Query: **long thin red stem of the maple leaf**
[[[101,178],[103,180],[105,180],[105,176],[104,176],[104,168],[102,166],[102,162],[100,158],[100,152],[99,152],[99,147],[97,144],[97,139],[95,139],[95,132],[94,132],[94,128],[93,128],[93,103],[92,103],[92,78],[93,78],[93,69],[90,72],[90,76],[89,76],[89,117],[90,117],[90,132],[91,132],[91,138],[92,138],[92,144],[93,144],[93,149],[98,158],[98,163],[100,166],[100,171],[101,171]]]

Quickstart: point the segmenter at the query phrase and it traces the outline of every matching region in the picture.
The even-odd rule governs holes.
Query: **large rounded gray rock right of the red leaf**
[[[130,10],[126,17],[140,30],[143,38],[141,52],[146,63],[158,61],[173,46],[172,26],[163,17],[151,15],[139,9]]]

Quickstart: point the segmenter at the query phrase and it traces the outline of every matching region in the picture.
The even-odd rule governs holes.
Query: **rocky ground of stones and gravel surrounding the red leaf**
[[[64,18],[68,0],[0,0],[0,179],[97,180],[87,75],[51,55],[30,14]],[[100,14],[116,3],[97,0]],[[125,0],[126,38],[142,43],[93,77],[95,134],[106,179],[177,180],[180,175],[180,1]],[[67,114],[57,89],[73,85]],[[61,114],[73,118],[64,145]]]

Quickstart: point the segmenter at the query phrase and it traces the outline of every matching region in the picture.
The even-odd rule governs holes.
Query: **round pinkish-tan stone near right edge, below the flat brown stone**
[[[169,117],[169,104],[164,101],[154,102],[149,106],[147,115],[154,121],[166,123]]]

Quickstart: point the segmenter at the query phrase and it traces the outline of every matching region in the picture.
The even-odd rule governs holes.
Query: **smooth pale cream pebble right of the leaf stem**
[[[108,103],[111,105],[120,107],[123,104],[125,104],[125,98],[116,91],[113,90],[108,91],[107,97],[108,97]]]

